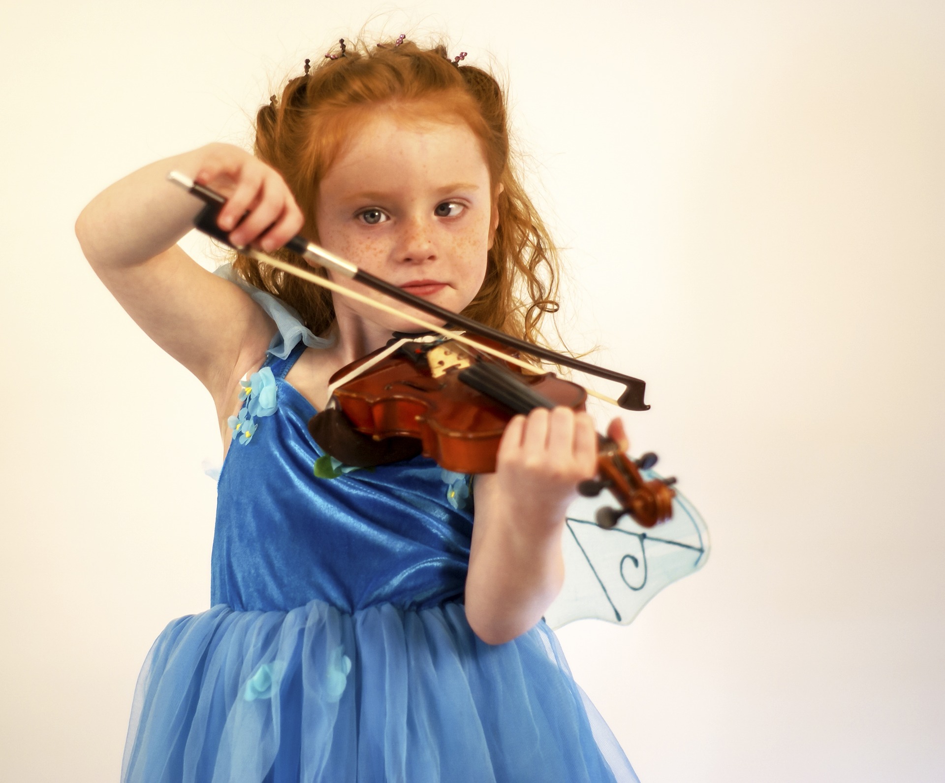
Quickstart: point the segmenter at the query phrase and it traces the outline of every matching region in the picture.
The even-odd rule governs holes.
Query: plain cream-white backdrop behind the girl
[[[114,780],[148,647],[208,607],[211,401],[75,218],[248,143],[378,11],[507,74],[565,334],[648,381],[635,450],[712,531],[631,626],[560,633],[644,783],[945,779],[939,0],[5,3],[2,776]]]

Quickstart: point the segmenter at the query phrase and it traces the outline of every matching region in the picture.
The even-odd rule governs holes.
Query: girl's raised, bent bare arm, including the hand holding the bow
[[[212,144],[129,174],[78,216],[76,235],[95,273],[225,415],[236,378],[262,361],[274,326],[244,291],[177,246],[202,203],[167,182],[172,169],[231,194],[222,228],[232,229],[249,209],[234,244],[281,246],[301,229],[301,212],[278,173],[242,149]]]

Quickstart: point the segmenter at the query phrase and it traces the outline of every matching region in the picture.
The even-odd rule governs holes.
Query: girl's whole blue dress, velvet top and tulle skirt
[[[472,633],[468,477],[351,469],[270,353],[218,483],[211,608],[138,680],[126,783],[636,781],[541,621]]]

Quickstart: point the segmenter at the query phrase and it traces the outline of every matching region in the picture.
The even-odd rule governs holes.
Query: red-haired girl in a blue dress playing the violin
[[[541,620],[565,508],[595,471],[591,418],[513,419],[474,512],[470,477],[426,458],[340,464],[306,427],[329,378],[416,327],[245,255],[211,274],[176,244],[201,204],[172,169],[229,196],[235,246],[301,233],[540,338],[555,257],[496,80],[403,36],[342,46],[259,111],[255,156],[211,144],[148,165],[77,221],[105,285],[213,395],[226,452],[212,608],[148,654],[123,780],[636,780]]]

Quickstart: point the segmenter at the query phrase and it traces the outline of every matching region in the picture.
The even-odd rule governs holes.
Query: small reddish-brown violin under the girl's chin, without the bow
[[[480,339],[484,345],[488,340]],[[583,410],[587,391],[553,373],[522,372],[455,339],[395,335],[386,348],[338,370],[329,407],[309,421],[316,443],[336,460],[373,467],[422,454],[456,473],[491,473],[509,419],[536,408]],[[620,509],[602,506],[597,524],[612,528],[628,513],[645,528],[673,513],[675,479],[645,480],[655,454],[630,460],[598,436],[597,479],[581,494],[603,489]]]

